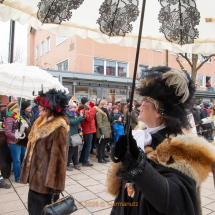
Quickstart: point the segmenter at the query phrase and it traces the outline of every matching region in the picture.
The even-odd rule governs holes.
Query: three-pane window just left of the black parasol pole
[[[112,60],[94,58],[94,74],[127,77],[128,64]]]

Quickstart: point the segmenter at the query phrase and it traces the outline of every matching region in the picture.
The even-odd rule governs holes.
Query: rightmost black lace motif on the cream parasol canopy
[[[199,37],[196,25],[200,13],[195,0],[158,0],[162,6],[158,20],[162,24],[160,32],[169,42],[180,45],[193,43]]]

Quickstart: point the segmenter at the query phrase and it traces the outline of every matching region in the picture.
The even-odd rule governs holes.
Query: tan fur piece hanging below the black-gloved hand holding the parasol
[[[118,167],[121,163],[111,163],[110,168],[108,170],[107,175],[107,192],[117,197],[119,195],[120,187],[121,187],[121,180],[116,177],[116,172]]]

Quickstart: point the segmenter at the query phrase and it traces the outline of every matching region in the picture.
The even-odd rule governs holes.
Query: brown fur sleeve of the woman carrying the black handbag
[[[66,180],[68,133],[64,127],[60,127],[54,132],[45,186],[63,191]]]

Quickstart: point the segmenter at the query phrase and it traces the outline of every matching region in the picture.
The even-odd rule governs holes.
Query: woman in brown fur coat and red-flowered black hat
[[[39,118],[28,135],[20,182],[29,183],[28,211],[40,215],[65,188],[69,123],[65,116],[68,98],[64,92],[42,91],[35,99]]]

